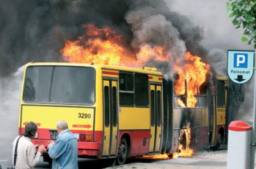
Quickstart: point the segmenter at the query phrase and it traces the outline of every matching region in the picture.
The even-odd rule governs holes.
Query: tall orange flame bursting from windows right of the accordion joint
[[[187,95],[187,103],[179,99],[178,104],[181,107],[195,107],[197,103],[195,95],[200,93],[201,85],[207,81],[210,72],[209,64],[199,56],[193,56],[190,52],[186,52],[184,69],[180,64],[175,64],[174,69],[178,75],[174,85],[175,94]]]

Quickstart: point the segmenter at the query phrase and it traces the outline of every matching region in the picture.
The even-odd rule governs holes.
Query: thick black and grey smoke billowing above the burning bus
[[[150,44],[167,45],[174,57],[182,57],[187,50],[207,54],[200,45],[203,31],[170,11],[162,0],[1,0],[0,75],[9,75],[30,61],[62,62],[65,39],[77,39],[84,33],[82,25],[88,23],[122,33],[135,52]]]

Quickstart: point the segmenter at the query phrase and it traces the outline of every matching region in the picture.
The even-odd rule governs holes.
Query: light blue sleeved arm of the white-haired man
[[[52,159],[59,158],[66,150],[67,150],[67,144],[63,142],[62,140],[57,140],[51,147],[48,149],[49,157]]]

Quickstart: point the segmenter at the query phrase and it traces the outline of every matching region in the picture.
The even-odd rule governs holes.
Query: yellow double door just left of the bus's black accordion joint
[[[149,152],[159,152],[162,133],[162,87],[150,85],[150,148]]]

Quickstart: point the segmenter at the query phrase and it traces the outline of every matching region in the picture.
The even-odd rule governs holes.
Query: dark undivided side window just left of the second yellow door
[[[138,107],[148,107],[148,76],[135,74],[135,105]]]

